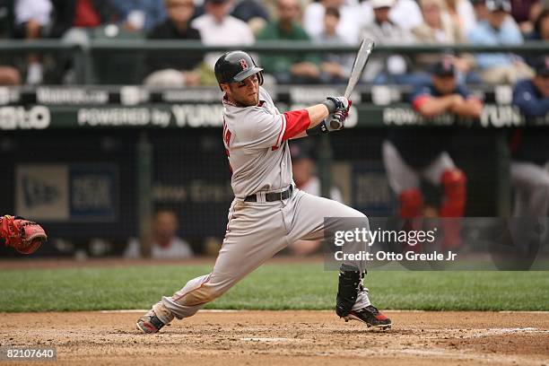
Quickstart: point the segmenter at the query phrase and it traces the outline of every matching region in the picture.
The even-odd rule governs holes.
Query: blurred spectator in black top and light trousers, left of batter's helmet
[[[198,30],[190,26],[195,11],[193,0],[165,0],[168,19],[154,27],[147,39],[189,39],[200,40]],[[179,55],[161,55],[155,52],[147,57],[149,76],[145,84],[149,86],[197,85],[200,77],[196,67],[202,62],[200,54],[181,53]]]

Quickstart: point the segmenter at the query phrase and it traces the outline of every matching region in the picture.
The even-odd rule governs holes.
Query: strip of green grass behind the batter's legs
[[[148,309],[210,266],[0,270],[0,311]],[[549,272],[371,271],[382,309],[549,310]],[[337,274],[319,264],[260,267],[206,309],[333,309]]]

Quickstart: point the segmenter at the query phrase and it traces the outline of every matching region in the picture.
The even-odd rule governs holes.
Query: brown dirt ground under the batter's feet
[[[383,332],[332,311],[202,311],[157,335],[140,314],[0,313],[0,344],[55,346],[60,365],[549,365],[549,313],[388,311]]]

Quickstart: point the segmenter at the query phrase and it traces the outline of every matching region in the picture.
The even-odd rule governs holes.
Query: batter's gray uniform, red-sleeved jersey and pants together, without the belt
[[[324,230],[334,230],[325,227],[326,217],[359,218],[362,226],[369,230],[368,219],[363,213],[299,189],[280,201],[244,201],[248,195],[283,190],[292,184],[287,140],[310,124],[306,109],[281,114],[263,88],[260,88],[259,100],[254,107],[240,107],[223,100],[223,143],[231,163],[235,199],[229,209],[225,239],[212,273],[188,281],[181,290],[159,302],[177,318],[194,315],[289,243],[321,240]],[[336,222],[328,224],[338,225]],[[363,261],[343,263],[361,271],[365,269]],[[359,293],[353,309],[368,305],[366,289]]]

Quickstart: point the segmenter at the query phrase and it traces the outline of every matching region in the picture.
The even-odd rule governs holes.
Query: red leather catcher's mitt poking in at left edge
[[[4,244],[22,254],[34,253],[48,239],[46,231],[36,222],[6,214],[0,217],[0,238]]]

